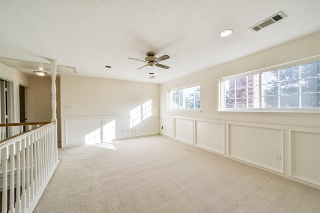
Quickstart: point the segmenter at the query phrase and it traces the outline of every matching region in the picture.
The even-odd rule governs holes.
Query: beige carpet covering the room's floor
[[[34,213],[320,213],[320,190],[157,135],[59,149]]]

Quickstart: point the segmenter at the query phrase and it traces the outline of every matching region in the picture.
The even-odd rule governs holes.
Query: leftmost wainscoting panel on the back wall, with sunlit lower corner
[[[102,119],[65,121],[65,145],[99,143],[102,140]]]

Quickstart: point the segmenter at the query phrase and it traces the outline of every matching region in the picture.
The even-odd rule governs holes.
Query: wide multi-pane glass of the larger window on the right
[[[221,79],[222,110],[320,108],[320,61]],[[281,110],[280,110],[281,111]]]

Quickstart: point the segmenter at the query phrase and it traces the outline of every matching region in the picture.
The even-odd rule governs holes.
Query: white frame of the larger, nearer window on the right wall
[[[309,58],[304,58],[296,61],[291,61],[283,64],[278,64],[262,69],[257,69],[249,72],[244,72],[232,76],[227,76],[227,77],[222,77],[219,79],[219,109],[218,111],[220,112],[310,112],[310,113],[319,113],[320,108],[261,108],[261,99],[262,99],[262,89],[261,89],[261,73],[263,72],[268,72],[268,71],[273,71],[277,69],[282,69],[282,68],[288,68],[291,66],[297,66],[297,65],[303,65],[307,63],[312,63],[315,61],[320,60],[320,55],[316,55],[313,57]],[[240,78],[240,77],[246,77],[249,75],[254,75],[254,74],[259,74],[259,102],[260,102],[260,108],[224,108],[224,81],[225,80],[230,80],[230,79],[235,79],[235,78]]]

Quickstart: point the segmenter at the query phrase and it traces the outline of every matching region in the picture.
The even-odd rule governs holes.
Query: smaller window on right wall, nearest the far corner
[[[169,109],[200,109],[200,85],[169,90]]]

